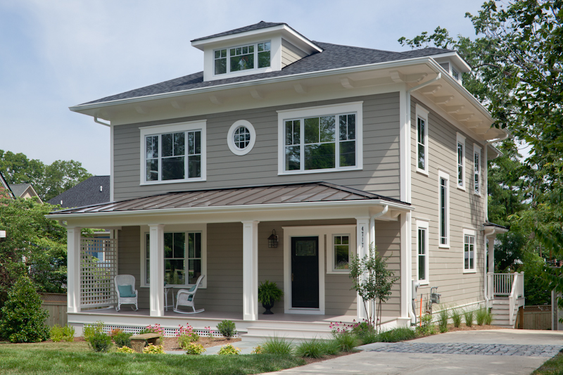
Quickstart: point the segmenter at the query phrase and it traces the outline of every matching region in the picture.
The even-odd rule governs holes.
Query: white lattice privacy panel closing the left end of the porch
[[[118,240],[80,241],[80,305],[108,306],[117,303],[113,277],[118,270]]]

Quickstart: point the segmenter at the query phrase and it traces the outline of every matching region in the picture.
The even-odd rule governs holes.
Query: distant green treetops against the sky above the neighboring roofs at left
[[[82,163],[75,160],[56,160],[45,165],[40,160],[28,159],[23,153],[3,150],[0,150],[0,170],[8,184],[33,184],[44,201],[91,177]]]

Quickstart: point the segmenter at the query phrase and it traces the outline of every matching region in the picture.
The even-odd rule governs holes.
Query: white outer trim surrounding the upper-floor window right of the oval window
[[[305,108],[294,108],[289,110],[278,110],[278,171],[279,176],[288,174],[311,174],[311,173],[327,173],[327,172],[344,172],[348,170],[363,169],[363,101],[355,101],[350,103],[331,104],[329,106],[315,106]],[[284,121],[303,117],[316,117],[326,115],[339,115],[343,113],[355,113],[356,115],[356,165],[353,167],[330,168],[326,170],[285,170],[285,127]]]

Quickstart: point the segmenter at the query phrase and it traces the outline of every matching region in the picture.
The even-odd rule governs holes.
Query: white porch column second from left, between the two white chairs
[[[153,224],[148,226],[149,231],[149,257],[151,258],[151,317],[164,316],[164,225]]]

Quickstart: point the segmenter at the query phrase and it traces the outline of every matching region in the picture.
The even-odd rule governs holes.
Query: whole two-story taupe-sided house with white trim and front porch
[[[486,263],[506,230],[487,220],[486,160],[508,134],[462,86],[470,68],[456,51],[313,42],[264,22],[191,44],[203,72],[70,108],[111,134],[112,203],[51,214],[68,224],[77,332],[97,320],[184,324],[165,310],[164,282],[181,288],[204,274],[196,329],[232,319],[247,338],[323,336],[331,320],[365,318],[348,260],[370,243],[400,277],[387,326],[415,322],[431,287],[434,311],[493,305]],[[137,279],[140,312],[89,310],[115,294],[80,267],[83,227],[118,229],[111,269]],[[284,298],[264,316],[266,279]]]

